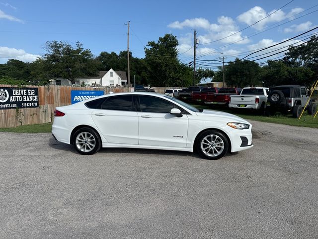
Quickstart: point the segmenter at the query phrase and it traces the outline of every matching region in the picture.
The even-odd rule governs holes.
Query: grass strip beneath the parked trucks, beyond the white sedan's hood
[[[207,110],[216,110],[216,111],[223,111],[227,113],[231,113],[233,115],[239,116],[243,119],[251,119],[261,122],[268,122],[268,123],[280,123],[280,124],[286,124],[286,125],[293,125],[293,126],[301,126],[301,127],[310,127],[310,128],[318,128],[318,116],[314,119],[313,116],[309,116],[307,114],[307,111],[304,112],[301,119],[293,118],[291,115],[281,115],[277,113],[275,116],[271,117],[265,117],[260,116],[257,112],[251,112],[251,111],[233,111],[226,107],[215,107],[210,108],[209,106],[202,106],[202,105],[193,105],[195,108],[201,108],[201,109],[207,109]]]

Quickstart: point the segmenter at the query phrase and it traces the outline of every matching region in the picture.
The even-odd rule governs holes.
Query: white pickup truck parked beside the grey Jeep
[[[239,96],[230,96],[230,108],[260,110],[266,107],[269,89],[265,87],[245,87]]]

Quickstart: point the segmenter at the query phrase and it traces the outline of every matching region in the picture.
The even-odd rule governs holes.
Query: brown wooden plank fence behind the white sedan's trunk
[[[14,87],[11,85],[0,85],[1,87]],[[132,89],[123,88],[104,88],[104,87],[71,87],[71,86],[23,86],[28,88],[38,88],[39,107],[37,108],[14,108],[0,109],[0,127],[16,127],[24,124],[47,123],[53,121],[54,110],[59,106],[71,104],[71,91],[104,91],[109,92],[130,92]]]

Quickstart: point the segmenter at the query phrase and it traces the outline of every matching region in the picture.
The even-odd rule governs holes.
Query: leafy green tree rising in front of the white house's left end
[[[97,75],[93,54],[80,42],[74,48],[67,42],[48,41],[45,50],[45,68],[51,78],[66,78],[75,84],[76,78]]]

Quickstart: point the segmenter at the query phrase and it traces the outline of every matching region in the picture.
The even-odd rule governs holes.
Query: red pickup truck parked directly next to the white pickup
[[[231,95],[239,95],[240,88],[220,88],[218,94],[207,95],[204,104],[229,105]]]

